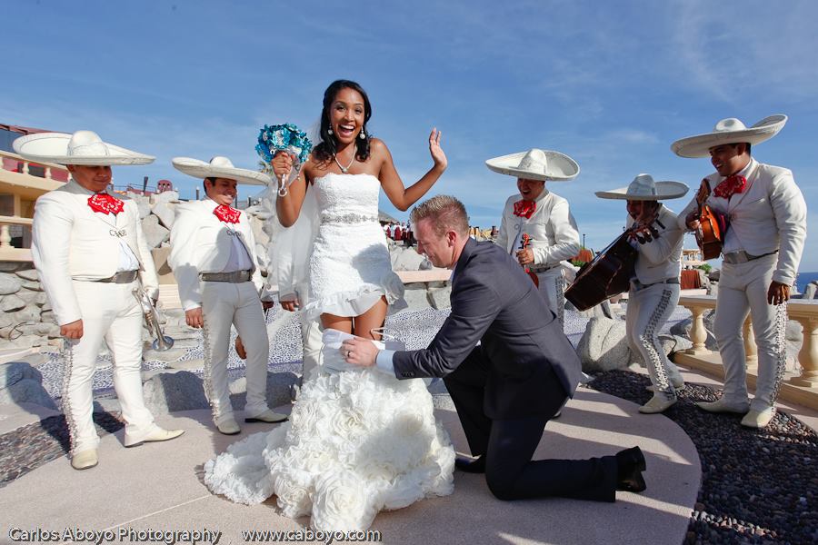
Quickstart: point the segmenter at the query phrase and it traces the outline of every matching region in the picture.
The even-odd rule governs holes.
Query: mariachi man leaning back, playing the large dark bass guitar
[[[687,190],[683,183],[654,182],[650,174],[639,174],[627,187],[596,192],[603,199],[627,201],[628,242],[636,250],[636,261],[628,292],[626,333],[631,351],[642,356],[653,383],[653,398],[640,412],[664,411],[684,387],[681,373],[667,359],[659,341],[659,332],[679,302],[684,233],[676,214],[659,201],[683,197]]]

